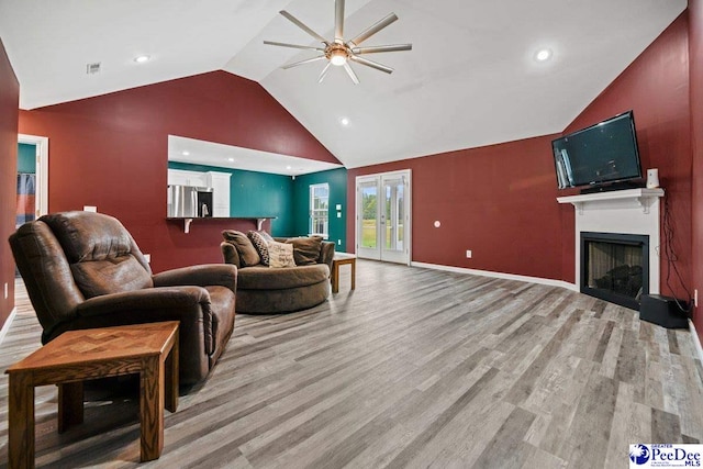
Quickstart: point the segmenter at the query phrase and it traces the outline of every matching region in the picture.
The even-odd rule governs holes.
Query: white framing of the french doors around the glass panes
[[[390,260],[390,259],[383,259],[383,244],[384,244],[384,237],[382,237],[379,233],[381,232],[381,230],[379,230],[380,226],[380,214],[381,214],[381,210],[383,206],[383,203],[381,203],[382,200],[386,199],[386,193],[383,192],[383,180],[384,179],[394,179],[394,178],[399,178],[402,177],[405,181],[404,183],[404,191],[405,193],[403,194],[403,201],[405,204],[405,220],[404,220],[404,226],[403,226],[403,250],[405,252],[405,259],[401,263],[398,263],[397,260]],[[361,222],[361,210],[360,210],[360,203],[359,203],[359,183],[360,182],[365,182],[368,180],[372,180],[376,179],[377,182],[377,204],[376,204],[376,211],[377,211],[377,246],[379,249],[379,256],[378,257],[369,257],[369,258],[373,258],[377,260],[386,260],[386,261],[394,261],[398,264],[404,264],[410,266],[412,263],[412,170],[411,169],[401,169],[398,171],[389,171],[389,172],[378,172],[378,174],[372,174],[372,175],[364,175],[364,176],[357,176],[356,180],[355,180],[355,190],[354,190],[354,197],[355,197],[355,216],[354,216],[354,238],[355,238],[355,247],[356,247],[356,254],[357,256],[359,256],[360,254],[360,249],[359,249],[359,224]],[[384,228],[383,228],[383,233],[384,233]],[[362,256],[359,256],[362,257]]]

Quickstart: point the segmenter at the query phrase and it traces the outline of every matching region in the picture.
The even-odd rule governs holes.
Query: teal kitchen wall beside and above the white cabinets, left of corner
[[[293,180],[290,176],[179,161],[168,161],[168,168],[200,172],[230,172],[232,175],[230,178],[230,216],[275,216],[276,220],[271,220],[272,236],[292,236],[294,234]]]

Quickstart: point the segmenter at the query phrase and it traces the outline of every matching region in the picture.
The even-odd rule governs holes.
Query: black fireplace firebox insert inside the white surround
[[[649,293],[649,236],[581,232],[581,292],[639,310]]]

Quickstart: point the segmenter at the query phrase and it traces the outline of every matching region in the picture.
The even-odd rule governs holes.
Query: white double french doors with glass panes
[[[410,265],[411,172],[356,178],[356,254]]]

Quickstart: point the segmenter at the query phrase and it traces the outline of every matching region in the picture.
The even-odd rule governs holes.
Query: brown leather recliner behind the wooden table
[[[180,321],[180,382],[204,379],[235,316],[237,269],[201,265],[152,273],[116,219],[64,212],[25,223],[10,246],[46,344],[69,330]]]

